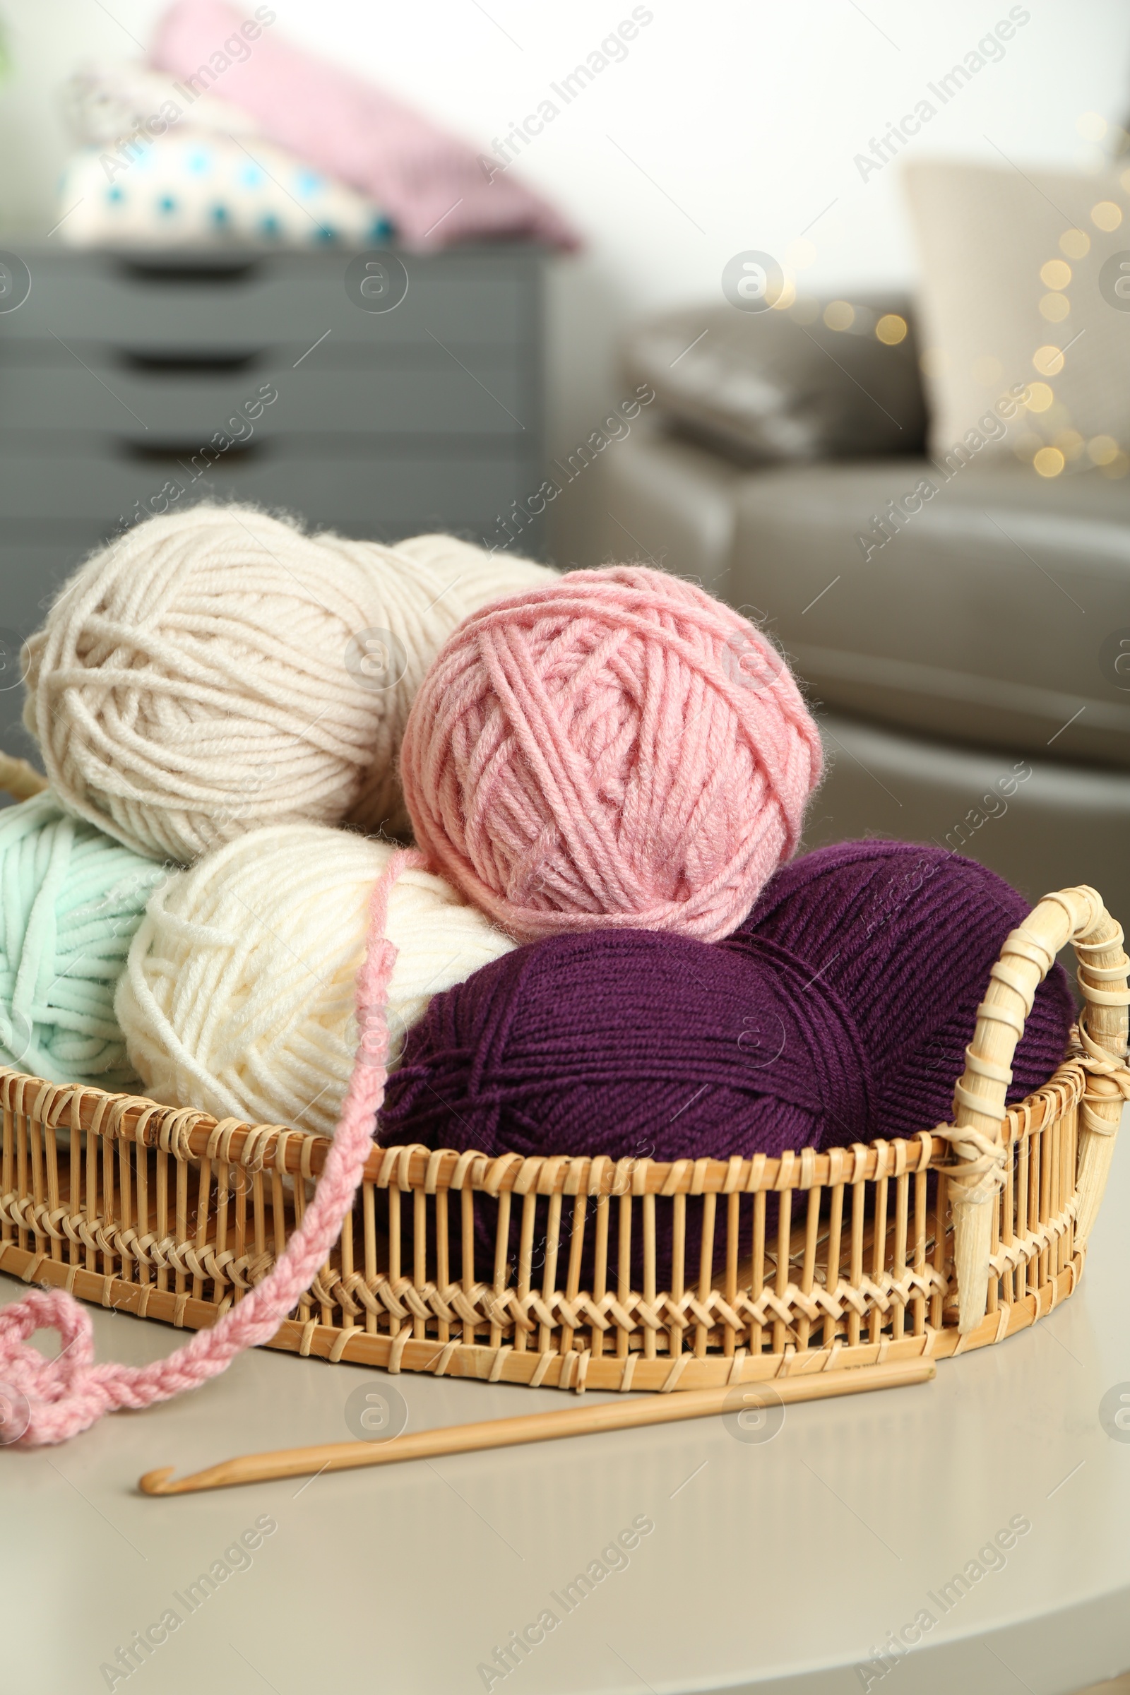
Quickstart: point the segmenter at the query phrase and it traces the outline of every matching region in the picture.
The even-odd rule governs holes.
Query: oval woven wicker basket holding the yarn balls
[[[1006,1112],[1025,1009],[1069,939],[1086,1000],[1072,1053]],[[993,968],[956,1125],[913,1139],[674,1164],[374,1148],[330,1263],[269,1346],[688,1390],[998,1342],[1083,1270],[1130,1098],[1122,941],[1089,888],[1040,902]],[[329,1148],[10,1070],[0,1097],[0,1270],[191,1329],[271,1270]]]

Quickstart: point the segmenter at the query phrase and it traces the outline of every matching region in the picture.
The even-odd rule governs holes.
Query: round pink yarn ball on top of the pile
[[[464,619],[402,749],[417,842],[520,941],[728,936],[795,851],[820,771],[778,649],[645,566],[571,571]]]

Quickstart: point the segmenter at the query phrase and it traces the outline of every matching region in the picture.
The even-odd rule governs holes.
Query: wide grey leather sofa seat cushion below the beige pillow
[[[1130,770],[1128,483],[888,459],[762,471],[735,502],[727,595],[823,703]]]

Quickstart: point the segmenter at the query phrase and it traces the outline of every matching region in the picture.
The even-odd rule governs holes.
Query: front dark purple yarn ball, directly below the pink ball
[[[435,995],[379,1141],[698,1159],[872,1134],[864,1044],[803,961],[625,929],[530,942]]]

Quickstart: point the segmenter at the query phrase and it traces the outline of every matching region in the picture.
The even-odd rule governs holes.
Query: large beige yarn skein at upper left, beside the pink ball
[[[449,536],[303,536],[254,507],[147,519],[29,641],[24,722],[59,800],[183,864],[266,824],[407,831],[396,756],[454,627],[547,566]]]

